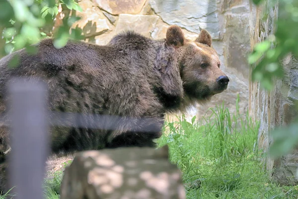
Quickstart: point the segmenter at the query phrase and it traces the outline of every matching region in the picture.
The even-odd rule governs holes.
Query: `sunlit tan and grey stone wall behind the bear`
[[[222,69],[230,78],[228,89],[209,104],[193,108],[188,118],[201,118],[209,107],[222,104],[235,112],[237,95],[240,111],[248,107],[246,54],[250,43],[249,0],[80,0],[82,19],[75,25],[84,27],[87,41],[106,44],[125,29],[135,30],[153,39],[165,38],[172,24],[183,28],[186,37],[195,39],[202,28],[213,36]]]

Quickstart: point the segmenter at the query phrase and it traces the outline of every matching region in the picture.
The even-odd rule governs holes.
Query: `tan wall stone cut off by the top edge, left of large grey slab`
[[[95,0],[97,5],[111,14],[138,14],[146,0]]]

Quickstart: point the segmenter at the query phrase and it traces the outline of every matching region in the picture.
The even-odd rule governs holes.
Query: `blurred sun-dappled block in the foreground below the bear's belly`
[[[116,148],[76,155],[66,168],[61,199],[186,199],[168,149]]]

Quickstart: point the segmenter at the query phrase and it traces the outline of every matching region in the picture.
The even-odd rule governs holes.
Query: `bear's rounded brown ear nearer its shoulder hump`
[[[175,47],[180,47],[184,44],[184,34],[182,29],[177,25],[171,25],[166,31],[166,43]]]

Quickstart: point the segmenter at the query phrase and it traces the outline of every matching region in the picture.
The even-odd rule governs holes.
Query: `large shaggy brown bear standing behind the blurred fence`
[[[161,136],[165,113],[210,100],[229,82],[206,30],[195,41],[185,38],[182,29],[173,25],[160,40],[124,31],[105,46],[69,41],[56,49],[52,39],[36,46],[34,55],[22,49],[0,60],[0,111],[8,111],[6,85],[10,78],[39,77],[48,85],[50,110],[135,118],[115,130],[52,125],[53,153],[154,147],[154,139]],[[14,54],[19,55],[19,65],[9,68]],[[143,117],[152,120],[140,124],[138,119]],[[137,130],[131,130],[137,122]],[[152,127],[154,132],[143,130]],[[0,128],[3,190],[5,157],[10,147],[8,129],[3,124]]]

